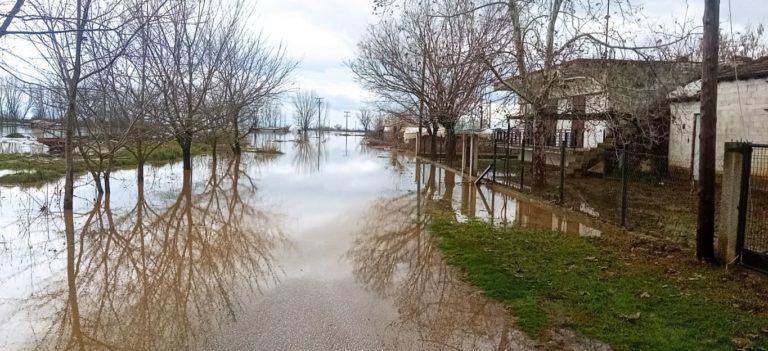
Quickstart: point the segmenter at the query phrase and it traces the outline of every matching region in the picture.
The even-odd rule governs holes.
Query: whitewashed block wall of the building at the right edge
[[[721,82],[717,94],[716,167],[721,172],[725,142],[768,143],[768,111],[765,111],[768,82],[765,79]],[[670,166],[690,168],[693,118],[699,110],[698,101],[671,104]],[[696,146],[699,146],[698,140]]]

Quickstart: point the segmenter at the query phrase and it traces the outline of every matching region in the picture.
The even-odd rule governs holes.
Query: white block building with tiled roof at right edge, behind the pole
[[[768,57],[723,67],[717,85],[717,171],[725,142],[768,143]],[[698,179],[701,81],[670,94],[669,166]]]

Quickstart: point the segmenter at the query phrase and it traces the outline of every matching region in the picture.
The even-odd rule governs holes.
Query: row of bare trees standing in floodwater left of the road
[[[181,147],[185,170],[194,142],[242,152],[257,111],[288,90],[297,65],[282,44],[250,29],[252,12],[244,0],[14,4],[0,37],[33,46],[39,58],[26,76],[8,62],[2,68],[31,87],[33,116],[59,116],[65,210],[72,209],[78,153],[108,192],[118,150],[136,158],[140,178],[148,156],[167,142]]]

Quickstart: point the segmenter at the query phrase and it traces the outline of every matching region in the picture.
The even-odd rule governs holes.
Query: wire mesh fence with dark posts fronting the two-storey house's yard
[[[480,168],[495,165],[491,179],[498,184],[629,229],[692,241],[697,207],[693,180],[671,174],[666,156],[612,148],[576,150],[568,140],[545,148],[543,182],[533,173],[533,150],[525,139],[481,160]]]

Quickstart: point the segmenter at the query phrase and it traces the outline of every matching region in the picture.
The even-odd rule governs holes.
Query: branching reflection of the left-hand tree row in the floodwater
[[[277,279],[271,252],[281,235],[246,200],[255,187],[239,158],[212,165],[203,183],[185,172],[166,206],[139,183],[127,211],[105,198],[78,229],[65,213],[67,285],[39,304],[60,306],[39,348],[186,349]]]

